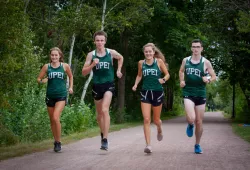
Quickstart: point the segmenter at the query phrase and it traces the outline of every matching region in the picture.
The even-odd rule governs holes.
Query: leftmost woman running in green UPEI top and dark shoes
[[[45,64],[37,78],[39,84],[47,83],[46,105],[48,108],[50,126],[54,136],[54,151],[61,151],[60,116],[66,104],[66,74],[69,77],[69,93],[73,93],[73,75],[68,64],[63,63],[62,51],[54,47],[50,49],[50,63]],[[44,78],[47,75],[47,78]]]

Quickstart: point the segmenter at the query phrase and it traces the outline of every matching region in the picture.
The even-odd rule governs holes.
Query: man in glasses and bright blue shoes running
[[[186,134],[193,136],[195,128],[196,142],[194,152],[202,153],[200,140],[203,132],[202,121],[206,105],[206,84],[216,80],[213,67],[209,60],[201,56],[203,50],[202,42],[198,39],[192,41],[192,56],[186,57],[182,61],[179,71],[180,87],[183,88],[183,98],[185,105],[188,126]],[[211,78],[207,78],[205,73],[209,73]]]

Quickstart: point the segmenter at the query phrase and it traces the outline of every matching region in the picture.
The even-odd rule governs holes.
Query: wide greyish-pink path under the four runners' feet
[[[185,134],[184,117],[165,121],[164,139],[156,140],[152,125],[152,154],[144,154],[142,126],[110,133],[109,151],[99,150],[100,137],[0,162],[1,170],[250,170],[250,144],[233,134],[219,112],[207,112],[201,142],[203,154],[193,153],[195,139]]]

